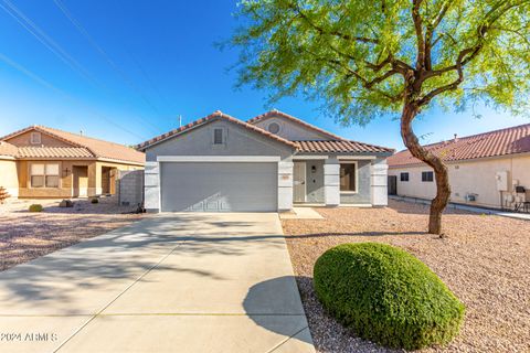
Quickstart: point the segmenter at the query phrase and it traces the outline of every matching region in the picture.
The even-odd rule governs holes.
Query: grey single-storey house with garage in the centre
[[[138,146],[151,212],[289,211],[295,204],[386,205],[393,150],[350,141],[273,110],[221,111]]]

